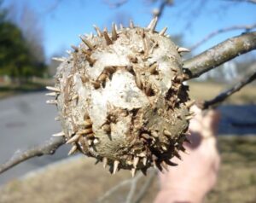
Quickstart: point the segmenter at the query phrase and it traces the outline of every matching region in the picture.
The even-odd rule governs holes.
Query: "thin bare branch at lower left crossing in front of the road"
[[[51,137],[48,141],[44,142],[41,145],[36,147],[26,149],[21,151],[18,154],[14,154],[12,158],[7,160],[3,165],[0,165],[0,174],[4,171],[9,170],[15,165],[20,164],[21,162],[31,159],[35,156],[42,156],[46,154],[55,154],[57,148],[61,147],[65,143],[64,137]]]

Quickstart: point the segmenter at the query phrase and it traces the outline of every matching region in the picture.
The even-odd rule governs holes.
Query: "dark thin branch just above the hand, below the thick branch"
[[[203,102],[199,106],[202,109],[207,109],[209,107],[216,107],[221,102],[224,102],[229,96],[233,95],[236,91],[241,90],[242,87],[251,83],[254,79],[256,79],[256,63],[253,64],[250,68],[250,72],[246,74],[244,78],[241,79],[240,82],[233,85],[230,89],[224,90],[218,96],[214,97],[212,100]]]

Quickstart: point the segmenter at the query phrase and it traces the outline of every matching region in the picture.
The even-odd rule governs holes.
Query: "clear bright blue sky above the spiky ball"
[[[112,21],[132,19],[136,25],[147,26],[152,10],[159,3],[146,0],[129,0],[119,8],[109,3],[120,0],[5,0],[4,6],[15,3],[18,8],[28,6],[38,16],[42,26],[46,59],[64,53],[71,44],[79,44],[79,34],[94,32],[92,25],[110,26]],[[168,27],[168,34],[183,35],[188,47],[197,43],[210,32],[235,25],[251,25],[256,22],[256,4],[234,3],[229,0],[176,0],[166,7],[157,30]],[[254,29],[255,30],[255,29]],[[195,49],[194,54],[212,47],[227,38],[241,34],[240,31],[225,32]]]

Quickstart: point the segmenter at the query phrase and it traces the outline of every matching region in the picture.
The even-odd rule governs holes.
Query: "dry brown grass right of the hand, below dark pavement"
[[[207,202],[256,202],[256,137],[221,136],[218,184]]]

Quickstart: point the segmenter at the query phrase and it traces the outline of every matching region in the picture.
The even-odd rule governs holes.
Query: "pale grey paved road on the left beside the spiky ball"
[[[9,159],[19,149],[44,142],[60,131],[54,120],[56,107],[45,103],[45,92],[14,96],[0,101],[0,163]],[[15,166],[0,175],[0,185],[56,159],[67,157],[67,146],[53,156],[36,157]]]

